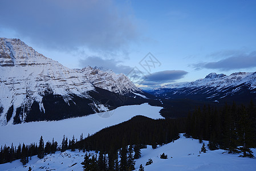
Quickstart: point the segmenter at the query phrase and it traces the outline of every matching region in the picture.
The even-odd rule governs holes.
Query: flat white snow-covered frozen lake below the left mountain
[[[19,143],[39,143],[40,136],[43,136],[43,140],[57,141],[60,145],[63,139],[63,135],[68,139],[80,138],[83,133],[84,137],[87,137],[88,133],[92,135],[100,131],[105,127],[119,124],[123,121],[127,121],[136,115],[143,115],[152,119],[163,118],[159,111],[161,107],[153,107],[149,104],[141,105],[128,105],[116,108],[113,111],[96,113],[84,117],[76,117],[71,119],[64,119],[60,121],[39,121],[32,123],[24,123],[18,125],[7,125],[0,127],[0,146],[7,145],[18,146]],[[1,170],[1,169],[0,169]]]

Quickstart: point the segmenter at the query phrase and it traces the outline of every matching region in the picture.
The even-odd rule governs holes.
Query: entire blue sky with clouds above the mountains
[[[256,1],[0,0],[0,37],[139,87],[256,71]]]

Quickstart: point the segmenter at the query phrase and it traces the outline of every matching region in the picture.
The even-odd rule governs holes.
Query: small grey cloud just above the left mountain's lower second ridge
[[[124,66],[121,60],[115,59],[102,59],[98,56],[89,56],[86,59],[80,59],[80,67],[102,67],[104,69],[109,69],[114,71],[115,73],[123,73],[128,74],[132,67]]]

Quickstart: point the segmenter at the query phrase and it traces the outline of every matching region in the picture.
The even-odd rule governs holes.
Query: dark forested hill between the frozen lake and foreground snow
[[[177,140],[185,132],[186,119],[150,119],[135,116],[131,120],[101,129],[76,145],[79,149],[109,152],[123,145],[163,145]],[[104,141],[103,141],[104,140]]]

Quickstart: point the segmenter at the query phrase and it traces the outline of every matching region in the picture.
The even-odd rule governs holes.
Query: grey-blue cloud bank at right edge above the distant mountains
[[[208,69],[220,69],[224,71],[243,69],[243,68],[253,68],[256,67],[256,51],[249,54],[235,54],[229,58],[219,60],[217,62],[203,62],[198,64],[193,64],[192,67],[196,70],[202,68]]]

